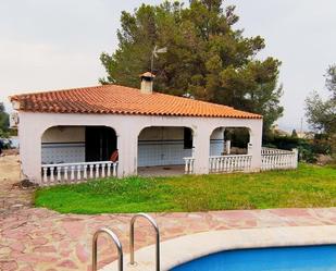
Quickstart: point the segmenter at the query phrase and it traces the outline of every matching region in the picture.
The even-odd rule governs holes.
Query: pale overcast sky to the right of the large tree
[[[283,62],[283,128],[300,128],[304,99],[313,89],[326,96],[323,74],[336,62],[333,0],[229,0],[237,5],[239,28],[245,35],[261,35],[266,48],[259,57],[272,56]],[[307,127],[307,124],[304,123]]]

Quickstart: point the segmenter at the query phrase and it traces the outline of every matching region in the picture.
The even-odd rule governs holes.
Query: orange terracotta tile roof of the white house
[[[10,97],[18,110],[57,113],[145,114],[261,119],[234,108],[117,85],[23,94]]]

